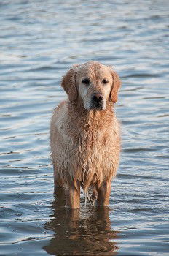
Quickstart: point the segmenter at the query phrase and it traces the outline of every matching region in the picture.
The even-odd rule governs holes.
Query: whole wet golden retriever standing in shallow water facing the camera
[[[61,86],[68,99],[55,108],[50,147],[55,188],[63,187],[66,207],[80,207],[80,187],[97,206],[108,206],[111,180],[120,154],[120,124],[114,103],[121,82],[117,72],[97,61],[74,65]]]

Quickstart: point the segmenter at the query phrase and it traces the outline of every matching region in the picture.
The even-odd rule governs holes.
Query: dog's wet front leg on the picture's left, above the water
[[[66,195],[66,207],[76,209],[80,207],[80,182],[73,181],[66,184],[65,187]]]

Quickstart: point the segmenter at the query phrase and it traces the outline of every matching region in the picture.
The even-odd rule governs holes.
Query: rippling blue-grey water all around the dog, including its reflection
[[[0,255],[168,255],[168,1],[0,2]],[[111,64],[122,155],[110,207],[53,197],[49,123],[72,64]]]

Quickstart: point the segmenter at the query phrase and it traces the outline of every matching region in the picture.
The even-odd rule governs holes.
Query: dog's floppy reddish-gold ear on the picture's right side
[[[111,69],[111,67],[109,68]],[[117,72],[115,72],[113,69],[111,69],[111,75],[113,78],[113,83],[111,86],[110,100],[111,102],[116,103],[118,99],[118,91],[121,86],[121,81],[119,79],[119,75],[117,75]]]

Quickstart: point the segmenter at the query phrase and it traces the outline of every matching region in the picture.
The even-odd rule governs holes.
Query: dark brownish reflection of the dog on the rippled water
[[[57,192],[62,197],[63,192]],[[118,232],[111,230],[109,208],[88,206],[76,210],[64,207],[63,200],[52,203],[54,215],[44,227],[55,237],[43,249],[50,255],[117,255]]]

